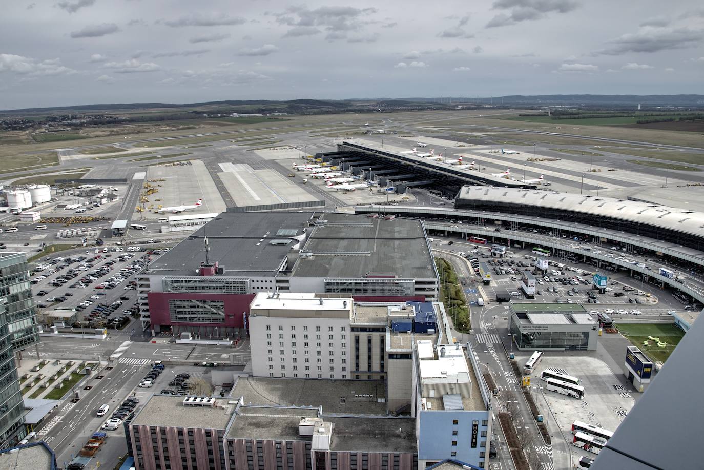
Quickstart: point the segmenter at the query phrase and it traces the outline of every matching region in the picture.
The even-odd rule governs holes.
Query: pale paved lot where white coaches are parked
[[[517,357],[520,366],[528,359],[529,354]],[[579,385],[584,388],[582,399],[547,390],[546,381],[541,379],[541,373],[546,369],[561,369],[578,378]],[[574,421],[615,431],[635,404],[633,386],[627,383],[622,375],[616,375],[601,359],[595,357],[545,352],[529,377],[531,393],[543,414],[543,419],[548,422],[553,440],[567,441],[572,451],[573,464],[582,456],[590,459],[596,457],[593,452],[574,445]],[[560,431],[555,432],[556,428]]]

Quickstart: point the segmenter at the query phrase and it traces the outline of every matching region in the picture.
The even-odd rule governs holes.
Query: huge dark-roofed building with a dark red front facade
[[[257,292],[367,302],[438,295],[420,221],[315,212],[219,214],[137,283],[145,329],[213,340],[243,335]]]

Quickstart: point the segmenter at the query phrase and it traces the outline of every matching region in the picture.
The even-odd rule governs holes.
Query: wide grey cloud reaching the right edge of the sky
[[[695,47],[704,39],[700,30],[688,27],[641,27],[637,32],[627,33],[610,43],[611,47],[597,51],[595,55],[620,56],[631,52],[658,52]]]

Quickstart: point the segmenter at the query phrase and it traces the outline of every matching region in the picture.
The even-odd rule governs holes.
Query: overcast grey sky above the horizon
[[[704,93],[696,0],[13,0],[2,8],[0,109]]]

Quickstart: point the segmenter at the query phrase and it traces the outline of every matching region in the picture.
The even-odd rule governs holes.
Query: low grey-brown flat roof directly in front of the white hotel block
[[[330,381],[304,378],[240,377],[232,390],[244,404],[279,407],[321,407],[324,413],[386,413],[381,381]],[[345,400],[340,400],[344,397]],[[343,402],[344,401],[344,402]]]

